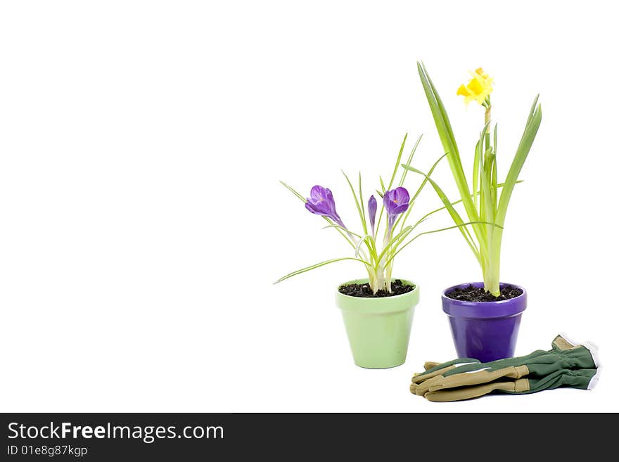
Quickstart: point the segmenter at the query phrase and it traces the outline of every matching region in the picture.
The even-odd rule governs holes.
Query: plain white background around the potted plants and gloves
[[[616,16],[602,1],[14,1],[0,8],[1,411],[619,411]],[[516,354],[565,331],[599,345],[592,392],[434,404],[409,393],[455,356],[441,290],[479,280],[457,231],[395,276],[421,288],[407,362],[352,363],[337,233],[278,182],[366,197],[402,137],[442,154],[416,71],[447,106],[466,171],[495,79],[499,171],[541,94],[509,208],[502,281],[525,286]],[[447,163],[435,179],[457,198]],[[414,188],[413,174],[407,186]],[[455,199],[454,199],[455,200]],[[437,206],[427,189],[414,217]],[[426,229],[449,224],[436,217]]]

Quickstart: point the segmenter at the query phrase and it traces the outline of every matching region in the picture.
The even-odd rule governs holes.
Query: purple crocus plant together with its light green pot
[[[350,245],[352,256],[330,259],[293,271],[276,283],[343,260],[355,260],[362,264],[367,277],[339,284],[336,304],[343,315],[355,364],[365,368],[390,368],[399,366],[406,360],[414,307],[419,302],[419,287],[409,279],[393,278],[395,256],[423,234],[466,225],[456,224],[413,235],[417,226],[433,212],[421,217],[416,223],[407,225],[412,205],[428,179],[423,179],[412,196],[403,186],[407,177],[406,170],[402,170],[400,181],[396,181],[405,143],[406,136],[388,186],[385,187],[383,179],[380,181],[381,187],[376,190],[378,198],[371,195],[365,203],[361,174],[359,173],[357,186],[353,186],[344,174],[359,213],[362,231],[358,233],[352,231],[350,225],[338,214],[333,193],[329,188],[314,186],[306,198],[282,181],[283,186],[305,203],[309,212],[326,220],[326,228],[333,228],[340,233],[347,245]],[[418,144],[419,139],[404,165],[410,166]],[[438,161],[428,172],[428,178],[437,164]]]

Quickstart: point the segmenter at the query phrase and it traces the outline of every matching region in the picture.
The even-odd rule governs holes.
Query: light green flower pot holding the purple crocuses
[[[381,298],[351,297],[340,293],[346,284],[363,284],[357,279],[338,285],[336,304],[342,310],[352,357],[357,366],[384,369],[406,361],[414,308],[419,303],[419,287],[402,295]],[[414,284],[410,281],[402,282]]]

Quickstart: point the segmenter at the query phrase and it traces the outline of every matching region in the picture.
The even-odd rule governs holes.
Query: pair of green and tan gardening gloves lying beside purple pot
[[[595,354],[592,345],[575,345],[565,335],[557,335],[552,349],[524,357],[488,363],[468,358],[426,363],[426,371],[415,374],[410,389],[430,401],[456,401],[494,390],[524,394],[560,386],[592,388],[598,377]]]

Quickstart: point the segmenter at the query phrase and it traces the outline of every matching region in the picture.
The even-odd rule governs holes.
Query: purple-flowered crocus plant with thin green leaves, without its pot
[[[473,225],[473,223],[461,222],[457,223],[455,226],[448,226],[447,228],[434,229],[431,231],[423,231],[413,235],[413,231],[415,231],[421,223],[425,222],[430,215],[442,210],[433,210],[432,212],[423,215],[423,217],[417,220],[416,223],[411,225],[406,224],[407,219],[411,214],[414,202],[423,190],[423,187],[426,186],[428,182],[430,182],[430,184],[434,184],[433,180],[430,179],[430,176],[432,175],[435,167],[438,165],[438,162],[440,162],[442,158],[445,158],[445,156],[442,156],[439,160],[437,160],[427,174],[423,174],[425,178],[421,181],[421,184],[416,189],[416,192],[413,195],[410,195],[407,188],[404,187],[404,181],[407,178],[408,172],[407,169],[402,170],[400,181],[396,182],[397,172],[400,171],[400,165],[402,164],[402,154],[404,153],[406,141],[407,136],[404,136],[404,141],[402,141],[402,145],[400,146],[400,152],[397,155],[395,167],[388,186],[385,186],[383,179],[379,177],[381,187],[376,189],[376,194],[382,200],[380,212],[378,212],[378,200],[376,200],[374,195],[369,197],[367,205],[364,202],[361,173],[359,173],[357,185],[355,187],[353,186],[352,181],[350,181],[350,178],[343,172],[346,182],[350,187],[350,191],[352,191],[352,197],[355,200],[359,220],[361,222],[361,231],[358,233],[352,231],[352,229],[349,229],[345,224],[345,220],[340,218],[340,215],[336,211],[336,203],[333,198],[333,193],[329,188],[316,185],[311,189],[309,197],[306,198],[302,194],[295,191],[295,189],[291,186],[288,186],[286,183],[281,181],[283,186],[286,186],[289,191],[305,203],[305,208],[309,212],[317,214],[326,220],[328,223],[326,228],[336,229],[336,231],[340,233],[347,243],[352,246],[354,253],[350,257],[330,259],[325,262],[320,262],[309,267],[298,269],[297,271],[293,271],[286,274],[286,276],[279,278],[275,283],[279,283],[291,278],[292,276],[305,273],[306,271],[310,271],[312,269],[324,267],[326,264],[341,262],[344,260],[354,260],[364,265],[368,274],[369,285],[374,294],[378,293],[379,290],[384,290],[386,293],[391,293],[391,281],[395,256],[414,240],[416,240],[416,238],[429,233],[437,233],[439,231],[446,231],[454,228],[462,229],[469,224]],[[419,139],[417,139],[411,149],[407,162],[403,164],[408,169],[412,169],[416,172],[420,171],[411,167],[411,162],[417,146],[419,146],[419,141],[421,141],[421,136],[419,136]],[[453,205],[449,204],[449,207],[453,207]],[[378,236],[381,232],[381,223],[383,222],[384,229],[382,231],[382,245],[379,246],[378,243],[381,242],[381,239]],[[494,227],[494,225],[489,222],[485,223],[478,221],[475,224]]]

